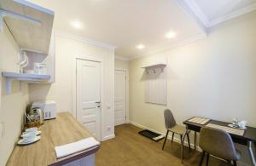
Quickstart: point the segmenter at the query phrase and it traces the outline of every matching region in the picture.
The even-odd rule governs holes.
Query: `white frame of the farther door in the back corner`
[[[129,123],[129,71],[125,68],[114,68],[115,71],[123,71],[125,72],[125,123]],[[114,85],[115,86],[115,85]],[[114,112],[114,109],[113,109]]]

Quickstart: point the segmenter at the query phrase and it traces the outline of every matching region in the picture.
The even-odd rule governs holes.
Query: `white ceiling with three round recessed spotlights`
[[[55,31],[111,44],[116,56],[133,59],[204,37],[212,21],[256,0],[29,1],[55,11]],[[76,20],[79,28],[71,25]],[[176,37],[166,38],[168,31]]]

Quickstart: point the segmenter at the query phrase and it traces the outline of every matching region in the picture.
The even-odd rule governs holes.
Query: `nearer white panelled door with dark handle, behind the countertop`
[[[101,63],[77,60],[77,119],[101,140]]]

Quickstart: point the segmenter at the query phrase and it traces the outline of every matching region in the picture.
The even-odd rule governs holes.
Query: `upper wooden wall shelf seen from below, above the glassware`
[[[54,14],[24,0],[1,0],[0,31],[4,21],[20,49],[48,54]]]

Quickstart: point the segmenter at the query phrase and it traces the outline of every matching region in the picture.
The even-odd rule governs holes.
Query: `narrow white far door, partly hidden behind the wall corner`
[[[114,125],[126,122],[126,72],[114,71]]]

